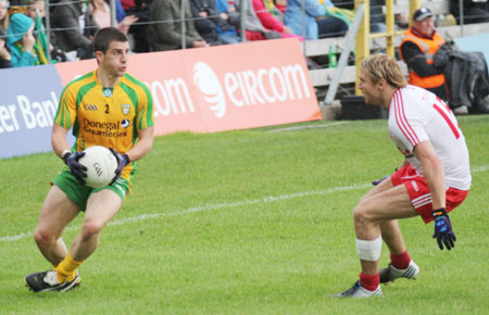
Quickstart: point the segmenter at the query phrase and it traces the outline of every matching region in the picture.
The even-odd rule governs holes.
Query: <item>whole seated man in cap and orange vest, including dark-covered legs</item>
[[[489,113],[489,76],[481,52],[453,51],[435,30],[432,13],[421,8],[400,46],[410,84],[449,100],[455,114]]]

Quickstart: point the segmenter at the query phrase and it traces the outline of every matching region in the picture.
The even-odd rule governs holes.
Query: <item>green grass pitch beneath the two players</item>
[[[459,121],[473,188],[451,215],[455,249],[438,250],[431,224],[402,220],[418,279],[362,301],[331,295],[360,272],[352,209],[401,162],[386,121],[156,138],[67,293],[23,280],[50,267],[32,231],[61,160],[0,160],[0,314],[487,314],[489,116]],[[384,245],[381,266],[388,255]]]

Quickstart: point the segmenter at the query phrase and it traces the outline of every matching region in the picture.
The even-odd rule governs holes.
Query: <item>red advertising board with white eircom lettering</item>
[[[66,85],[97,63],[57,67]],[[321,119],[297,39],[131,54],[128,72],[152,92],[156,135]]]

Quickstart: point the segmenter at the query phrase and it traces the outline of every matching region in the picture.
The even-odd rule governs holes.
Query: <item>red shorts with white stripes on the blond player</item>
[[[392,176],[390,177],[393,186],[398,186],[404,184],[408,189],[408,193],[411,199],[411,203],[414,209],[419,213],[423,220],[425,223],[432,220],[432,201],[431,201],[431,192],[429,191],[428,184],[423,176],[419,176],[416,171],[411,167],[410,164],[406,166],[399,168]],[[467,197],[468,190],[460,190],[456,188],[449,187],[447,190],[447,212],[452,211],[459,204],[464,201],[465,197]]]

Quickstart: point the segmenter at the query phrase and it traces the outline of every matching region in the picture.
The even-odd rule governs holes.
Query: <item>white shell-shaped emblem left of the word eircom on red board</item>
[[[226,97],[215,72],[206,63],[198,62],[193,66],[193,83],[211,104],[209,108],[214,115],[222,118],[226,114]]]

